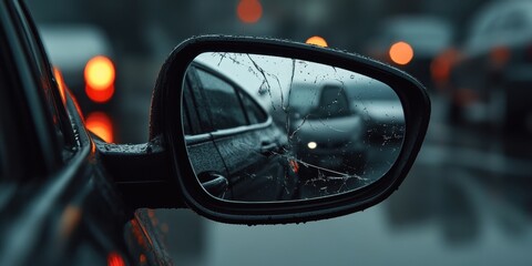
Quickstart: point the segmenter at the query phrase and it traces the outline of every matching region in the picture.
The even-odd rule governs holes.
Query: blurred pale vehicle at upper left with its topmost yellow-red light
[[[85,111],[114,93],[113,51],[105,34],[89,24],[45,24],[39,28],[44,49]]]

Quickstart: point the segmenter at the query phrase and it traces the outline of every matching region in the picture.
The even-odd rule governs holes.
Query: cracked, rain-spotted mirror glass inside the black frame
[[[393,165],[405,115],[393,90],[334,65],[207,52],[183,83],[183,129],[198,182],[235,202],[359,190]]]

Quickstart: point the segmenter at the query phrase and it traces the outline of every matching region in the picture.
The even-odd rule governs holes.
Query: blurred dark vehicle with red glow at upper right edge
[[[469,30],[452,69],[451,117],[522,129],[532,121],[532,2],[492,2]]]

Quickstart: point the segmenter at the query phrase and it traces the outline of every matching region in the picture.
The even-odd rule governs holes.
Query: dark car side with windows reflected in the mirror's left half
[[[206,190],[239,201],[280,200],[272,195],[288,190],[276,180],[288,170],[280,155],[286,134],[272,116],[239,85],[198,62],[187,71],[184,98],[188,153]]]

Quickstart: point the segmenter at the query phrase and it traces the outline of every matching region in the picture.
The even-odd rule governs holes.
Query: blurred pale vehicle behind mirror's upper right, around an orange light
[[[452,41],[449,22],[428,16],[398,17],[383,22],[378,32],[368,44],[368,54],[408,71],[427,85],[432,84],[431,63]],[[412,49],[411,61],[393,60],[395,55],[401,58],[406,53],[392,49],[398,42]]]

